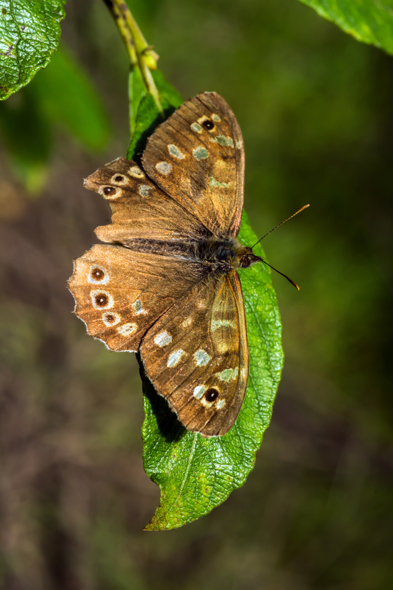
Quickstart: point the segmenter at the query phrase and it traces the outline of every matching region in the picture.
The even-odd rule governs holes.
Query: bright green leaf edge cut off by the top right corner
[[[358,41],[393,55],[392,0],[300,0]]]

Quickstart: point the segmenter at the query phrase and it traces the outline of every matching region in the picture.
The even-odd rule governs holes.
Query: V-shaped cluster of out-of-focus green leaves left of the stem
[[[15,96],[0,103],[0,133],[15,176],[31,194],[47,180],[53,127],[86,149],[103,149],[110,125],[97,91],[64,49]]]

